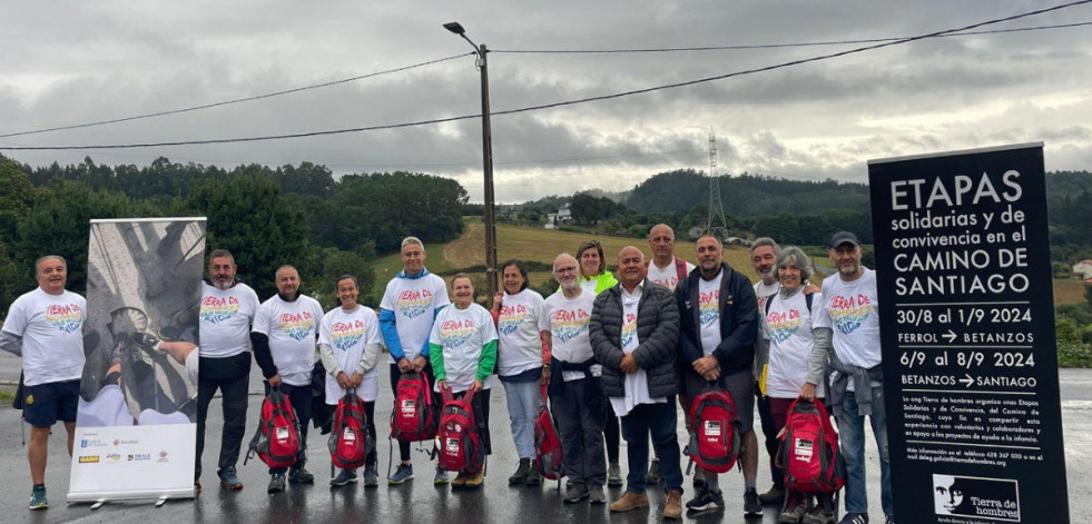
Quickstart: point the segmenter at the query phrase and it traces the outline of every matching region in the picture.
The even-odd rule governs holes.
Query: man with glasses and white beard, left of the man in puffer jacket
[[[561,290],[545,299],[539,329],[550,345],[550,406],[558,421],[562,462],[572,485],[565,503],[591,498],[606,504],[607,467],[603,461],[603,407],[599,376],[588,337],[596,295],[580,287],[577,259],[568,253],[553,260],[553,278]]]

